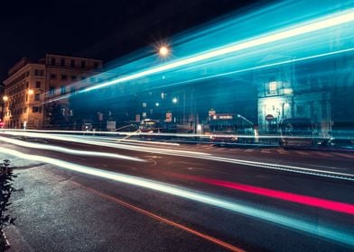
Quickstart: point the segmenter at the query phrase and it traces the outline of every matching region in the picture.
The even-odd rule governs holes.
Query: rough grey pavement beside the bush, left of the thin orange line
[[[21,160],[14,160],[14,163]],[[19,162],[21,163],[21,162]],[[14,170],[18,177],[5,228],[9,252],[33,251],[224,251],[163,222],[131,211],[76,182],[129,193],[131,187],[66,172],[51,165]],[[113,190],[113,191],[112,191]],[[144,192],[144,189],[138,189]],[[153,194],[154,195],[154,194]],[[142,193],[135,200],[153,201]]]

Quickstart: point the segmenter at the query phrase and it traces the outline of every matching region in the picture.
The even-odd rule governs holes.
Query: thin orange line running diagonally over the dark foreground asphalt
[[[200,238],[203,238],[203,239],[206,239],[212,243],[215,243],[217,245],[219,245],[220,247],[225,247],[227,248],[228,250],[230,251],[235,251],[235,252],[246,252],[246,250],[243,250],[242,248],[239,248],[239,247],[235,247],[225,241],[222,241],[220,240],[219,238],[214,238],[214,237],[211,237],[210,235],[207,235],[207,234],[204,234],[204,233],[201,233],[200,231],[197,231],[195,229],[191,229],[191,228],[188,228],[182,224],[179,224],[177,222],[174,222],[172,220],[168,220],[168,219],[165,219],[159,215],[156,215],[154,214],[153,212],[151,211],[146,211],[140,207],[137,207],[131,203],[128,203],[128,202],[125,202],[125,201],[122,201],[120,199],[117,199],[116,197],[113,197],[111,195],[108,195],[106,193],[102,193],[102,192],[99,192],[93,188],[90,188],[88,186],[85,186],[83,184],[79,184],[78,182],[75,182],[75,181],[71,181],[72,184],[76,184],[78,186],[81,186],[83,187],[84,189],[86,189],[87,191],[89,191],[90,193],[95,193],[97,194],[98,196],[101,196],[105,199],[107,199],[108,201],[111,201],[111,202],[116,202],[117,204],[119,205],[122,205],[130,210],[133,210],[133,211],[136,211],[136,212],[139,212],[139,213],[142,213],[144,214],[145,216],[147,217],[150,217],[150,218],[153,218],[154,220],[158,220],[158,221],[161,221],[167,225],[170,225],[174,228],[177,228],[177,229],[182,229],[183,231],[186,231],[188,233],[191,233],[197,237],[200,237]]]

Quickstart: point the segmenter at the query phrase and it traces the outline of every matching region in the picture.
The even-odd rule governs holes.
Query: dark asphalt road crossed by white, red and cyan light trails
[[[10,233],[33,251],[354,250],[350,152],[82,137],[0,147],[23,188]]]

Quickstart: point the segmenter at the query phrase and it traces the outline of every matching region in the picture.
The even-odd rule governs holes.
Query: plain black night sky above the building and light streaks
[[[19,59],[58,53],[109,60],[259,1],[2,1],[0,81]]]

